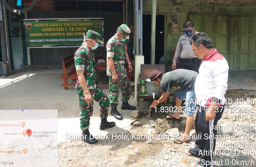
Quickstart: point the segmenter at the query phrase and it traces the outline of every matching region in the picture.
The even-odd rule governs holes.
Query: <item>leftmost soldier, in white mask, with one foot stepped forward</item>
[[[95,67],[94,53],[92,50],[98,47],[101,35],[93,30],[88,30],[84,36],[84,43],[75,52],[74,61],[78,80],[76,92],[79,94],[81,139],[89,144],[97,143],[89,132],[90,116],[93,112],[94,100],[100,104],[100,130],[112,128],[114,122],[107,122],[109,99],[101,87],[98,87],[98,69]],[[90,137],[91,136],[91,137]]]

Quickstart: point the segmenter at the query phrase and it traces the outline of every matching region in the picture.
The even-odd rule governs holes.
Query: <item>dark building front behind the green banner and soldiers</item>
[[[5,15],[3,16],[5,32],[1,35],[1,39],[3,39],[1,44],[6,44],[4,49],[2,49],[6,52],[1,52],[1,58],[2,60],[9,60],[11,72],[27,66],[62,66],[62,59],[74,54],[77,47],[27,49],[23,19],[103,18],[103,38],[104,43],[106,43],[107,40],[116,33],[118,26],[123,23],[128,26],[131,25],[130,18],[131,13],[133,14],[133,10],[130,9],[132,9],[132,3],[133,1],[131,0],[52,0],[52,10],[50,11],[30,10],[20,14],[10,12],[1,5],[5,12]],[[24,8],[23,1],[21,8],[22,7]],[[132,38],[128,41],[129,52],[131,48],[130,43],[133,43]],[[95,50],[95,55],[106,55],[106,48],[99,47]]]

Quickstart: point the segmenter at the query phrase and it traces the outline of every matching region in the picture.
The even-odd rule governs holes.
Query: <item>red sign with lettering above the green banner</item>
[[[24,0],[25,7],[31,4],[32,0]],[[32,10],[52,10],[52,0],[37,0]]]

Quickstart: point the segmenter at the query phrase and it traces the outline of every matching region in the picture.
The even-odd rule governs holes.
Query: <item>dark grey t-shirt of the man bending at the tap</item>
[[[170,88],[194,90],[198,73],[188,69],[175,69],[162,76],[160,81],[162,93],[170,92]]]

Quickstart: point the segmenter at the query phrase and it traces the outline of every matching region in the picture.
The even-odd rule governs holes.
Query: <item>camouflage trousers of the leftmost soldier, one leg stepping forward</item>
[[[81,86],[80,86],[81,87]],[[92,116],[94,100],[97,101],[100,105],[100,118],[104,119],[108,116],[108,107],[109,99],[101,87],[97,89],[89,90],[92,95],[92,104],[88,105],[85,102],[85,96],[83,91],[76,89],[76,92],[79,94],[79,106],[80,106],[80,129],[85,130],[89,128],[90,125],[90,116]]]

